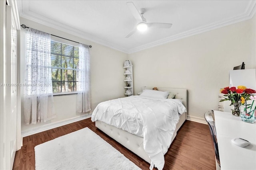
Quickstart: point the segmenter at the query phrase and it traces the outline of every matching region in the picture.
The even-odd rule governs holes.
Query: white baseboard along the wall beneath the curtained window
[[[92,113],[88,114],[88,115],[83,115],[83,116],[78,116],[78,117],[73,117],[73,118],[70,118],[70,119],[66,119],[66,120],[63,120],[63,121],[58,121],[58,122],[54,122],[54,123],[49,123],[47,125],[43,125],[41,127],[36,127],[34,129],[30,129],[28,131],[22,131],[21,132],[21,137],[27,137],[29,135],[34,135],[36,133],[40,133],[40,132],[43,132],[43,131],[47,131],[47,130],[50,130],[50,129],[53,129],[53,128],[56,128],[56,127],[60,127],[60,126],[63,126],[63,125],[67,125],[67,124],[70,124],[70,123],[74,123],[76,121],[80,121],[80,120],[84,120],[84,119],[87,119],[89,117],[92,116]]]

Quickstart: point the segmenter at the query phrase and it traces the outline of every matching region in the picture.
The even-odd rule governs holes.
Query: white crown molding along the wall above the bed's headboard
[[[156,47],[158,45],[162,45],[162,44],[166,44],[166,43],[169,43],[169,42],[172,42],[172,41],[176,41],[178,39],[183,39],[183,38],[186,38],[186,37],[190,37],[192,35],[204,33],[206,31],[210,31],[210,30],[213,30],[213,29],[217,29],[217,28],[220,28],[220,27],[231,25],[233,23],[238,23],[238,22],[241,22],[241,21],[249,20],[254,16],[255,8],[256,8],[256,1],[251,0],[250,3],[248,4],[247,8],[246,8],[246,12],[244,12],[244,14],[242,14],[240,16],[236,16],[234,18],[230,18],[229,20],[225,20],[225,21],[210,23],[210,24],[204,25],[202,27],[197,27],[195,29],[190,29],[188,31],[184,31],[184,32],[179,33],[179,34],[172,35],[170,37],[166,37],[166,38],[160,39],[158,41],[154,41],[152,43],[141,45],[139,47],[128,50],[128,54],[136,53],[138,51],[142,51],[144,49],[149,49],[149,48],[152,48],[152,47]]]

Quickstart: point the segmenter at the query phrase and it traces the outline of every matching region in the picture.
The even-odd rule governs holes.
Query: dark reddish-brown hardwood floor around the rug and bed
[[[34,147],[62,135],[89,127],[92,131],[119,150],[142,170],[148,170],[150,164],[100,131],[90,119],[57,127],[23,138],[23,147],[16,152],[14,170],[34,170]],[[170,149],[165,154],[164,170],[215,170],[215,155],[208,125],[186,121],[178,131]],[[156,170],[156,168],[154,168]]]

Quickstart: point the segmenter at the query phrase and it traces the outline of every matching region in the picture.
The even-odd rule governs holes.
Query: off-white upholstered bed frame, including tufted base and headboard
[[[142,87],[142,90],[144,89],[152,89],[152,87]],[[176,99],[181,99],[184,106],[187,108],[187,90],[181,89],[181,88],[158,88],[159,91],[168,91],[176,94]],[[176,125],[176,129],[174,131],[172,141],[177,135],[177,131],[180,129],[184,121],[186,120],[187,113],[183,113],[180,116],[179,122]],[[122,129],[119,129],[117,127],[114,127],[112,125],[108,125],[102,121],[96,121],[95,126],[98,127],[101,131],[106,133],[108,136],[112,137],[114,140],[116,140],[118,143],[122,144],[127,149],[131,150],[138,156],[140,156],[142,159],[146,160],[146,162],[150,163],[151,160],[144,150],[143,147],[143,138],[133,135],[127,131],[124,131]]]

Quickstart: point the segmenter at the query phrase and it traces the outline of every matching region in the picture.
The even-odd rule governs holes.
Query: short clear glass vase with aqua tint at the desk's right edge
[[[240,106],[240,119],[244,122],[254,123],[256,121],[256,110]]]

